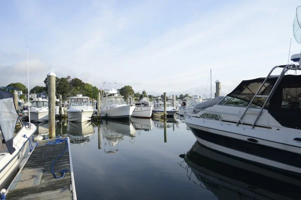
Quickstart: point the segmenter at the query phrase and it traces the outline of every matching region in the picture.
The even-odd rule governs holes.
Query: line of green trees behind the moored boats
[[[48,93],[48,86],[47,86],[47,77],[44,80],[45,86],[36,85],[31,88],[30,93],[41,93],[46,92]],[[7,85],[7,87],[15,88],[16,90],[22,91],[23,94],[19,96],[20,99],[26,100],[27,97],[27,87],[20,83],[20,82],[13,82]],[[11,90],[11,92],[13,92]],[[67,77],[56,77],[56,96],[62,95],[63,99],[67,97],[76,96],[76,94],[83,94],[83,96],[88,96],[90,98],[97,99],[97,93],[99,89],[96,86],[93,86],[90,83],[85,83],[81,79],[75,77],[71,78],[71,76]],[[142,93],[134,92],[131,85],[125,85],[118,89],[120,95],[124,96],[124,99],[127,100],[129,96],[133,97],[134,100],[142,99],[143,97],[148,97],[149,100],[153,100],[159,96],[154,96],[152,94],[147,94],[146,91],[143,89]],[[162,94],[161,97],[163,98],[164,95]],[[183,99],[185,97],[190,97],[189,94],[180,94],[179,96],[176,95],[176,99]]]

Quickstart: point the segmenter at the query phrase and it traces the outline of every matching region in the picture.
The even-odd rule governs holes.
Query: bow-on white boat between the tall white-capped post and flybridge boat
[[[68,121],[90,121],[93,111],[94,109],[89,101],[89,97],[77,94],[69,98],[69,107],[67,109]]]

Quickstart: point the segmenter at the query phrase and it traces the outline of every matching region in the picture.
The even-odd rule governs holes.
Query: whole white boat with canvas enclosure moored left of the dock
[[[36,126],[33,123],[22,122],[11,92],[0,91],[0,107],[0,188],[2,189],[9,186],[19,171],[19,164],[28,157],[28,138],[36,131]]]

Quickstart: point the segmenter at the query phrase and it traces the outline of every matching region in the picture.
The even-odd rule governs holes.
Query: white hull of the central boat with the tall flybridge
[[[105,109],[102,107],[100,110],[100,115],[104,118],[122,118],[129,117],[132,115],[135,105],[124,105],[119,107],[113,107],[110,109]]]

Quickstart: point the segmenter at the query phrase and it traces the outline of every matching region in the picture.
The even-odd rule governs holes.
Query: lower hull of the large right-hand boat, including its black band
[[[252,142],[248,140],[250,137],[247,135],[240,135],[240,138],[235,138],[234,133],[190,123],[186,124],[197,140],[209,148],[250,160],[267,168],[291,171],[301,175],[301,154],[289,151],[290,145],[281,144],[284,147],[279,149],[273,147],[276,144],[265,145],[265,141],[262,139],[256,139],[257,142]],[[301,148],[298,152],[301,152]]]

